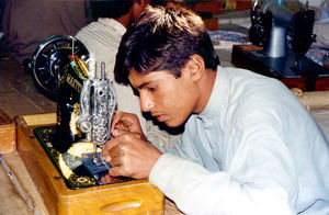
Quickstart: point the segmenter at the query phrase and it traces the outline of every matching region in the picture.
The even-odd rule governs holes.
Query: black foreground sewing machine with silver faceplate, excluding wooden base
[[[97,150],[111,138],[111,120],[116,98],[113,80],[105,79],[105,64],[101,65],[102,75],[95,77],[93,55],[89,55],[84,45],[72,36],[52,36],[43,42],[33,55],[34,82],[46,95],[57,101],[57,124],[54,134],[49,134],[48,142],[60,152],[61,169],[61,165],[67,165],[72,170],[81,165],[83,167],[80,158],[68,154],[68,149],[76,143],[93,144],[91,163],[102,165]],[[35,135],[41,136],[38,131]]]

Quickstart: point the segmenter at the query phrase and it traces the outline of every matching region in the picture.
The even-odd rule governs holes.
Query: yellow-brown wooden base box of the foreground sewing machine
[[[18,151],[50,214],[163,214],[164,196],[147,180],[70,189],[33,134],[56,114],[19,116]]]

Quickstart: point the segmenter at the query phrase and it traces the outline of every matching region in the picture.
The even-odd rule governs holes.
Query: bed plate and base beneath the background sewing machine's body
[[[288,55],[288,59],[270,59],[262,54],[263,48],[256,45],[234,45],[231,63],[239,68],[249,69],[263,76],[281,80],[287,88],[299,88],[304,91],[329,90],[329,71],[316,63],[305,59],[310,72],[305,75],[291,70],[291,61],[294,55]]]

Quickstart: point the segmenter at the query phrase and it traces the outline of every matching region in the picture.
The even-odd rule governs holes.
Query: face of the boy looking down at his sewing
[[[169,127],[182,125],[197,102],[197,91],[189,72],[182,71],[182,76],[175,78],[167,70],[140,75],[132,69],[128,78],[139,92],[141,111],[150,112]]]

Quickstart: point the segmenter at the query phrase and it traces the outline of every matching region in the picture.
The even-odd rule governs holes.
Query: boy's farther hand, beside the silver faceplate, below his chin
[[[118,137],[127,132],[138,134],[141,139],[146,137],[141,131],[137,115],[115,111],[112,117],[111,134],[113,137]]]

